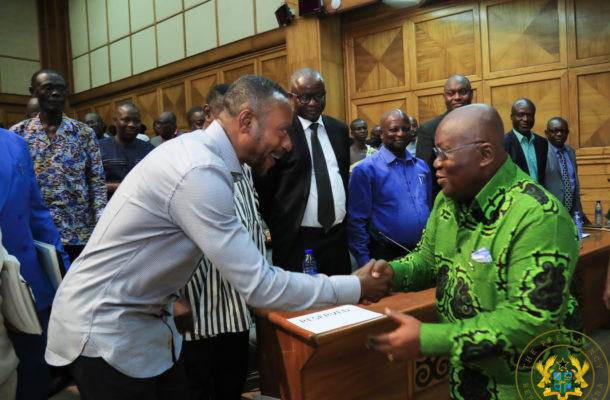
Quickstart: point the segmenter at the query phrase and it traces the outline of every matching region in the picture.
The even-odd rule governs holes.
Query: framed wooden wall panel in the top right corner
[[[610,62],[610,2],[568,0],[570,66]]]

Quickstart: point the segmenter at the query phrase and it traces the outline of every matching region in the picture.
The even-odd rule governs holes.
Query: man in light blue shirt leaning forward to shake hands
[[[186,398],[171,304],[203,252],[254,307],[296,311],[385,295],[370,275],[309,276],[270,267],[235,215],[241,163],[269,169],[291,148],[278,84],[235,81],[205,132],[150,152],[108,203],[57,292],[46,360],[69,365],[87,399]],[[202,360],[206,362],[206,360]]]

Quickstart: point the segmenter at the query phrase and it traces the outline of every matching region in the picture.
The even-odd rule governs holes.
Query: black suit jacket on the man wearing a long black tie
[[[332,117],[323,115],[322,121],[337,157],[347,198],[349,131],[347,125]],[[271,231],[274,249],[289,249],[295,240],[305,214],[311,184],[311,156],[305,132],[296,114],[293,114],[288,135],[292,149],[265,175],[254,175],[260,211]]]

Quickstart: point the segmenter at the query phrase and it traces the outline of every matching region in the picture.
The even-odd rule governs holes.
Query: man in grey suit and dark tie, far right
[[[570,130],[561,117],[551,118],[544,131],[549,141],[544,187],[566,207],[570,215],[578,211],[585,224],[589,224],[580,203],[580,183],[574,148],[565,144]]]

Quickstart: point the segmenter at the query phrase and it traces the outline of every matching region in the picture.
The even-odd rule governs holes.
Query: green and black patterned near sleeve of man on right
[[[497,261],[509,266],[506,300],[472,318],[422,324],[422,353],[449,354],[452,362],[459,363],[490,355],[514,356],[515,349],[562,324],[569,312],[564,299],[570,297],[569,283],[578,258],[573,229],[565,229],[571,224],[566,216],[524,214],[513,231],[508,254]],[[484,269],[484,265],[474,266],[475,273],[484,274]]]

